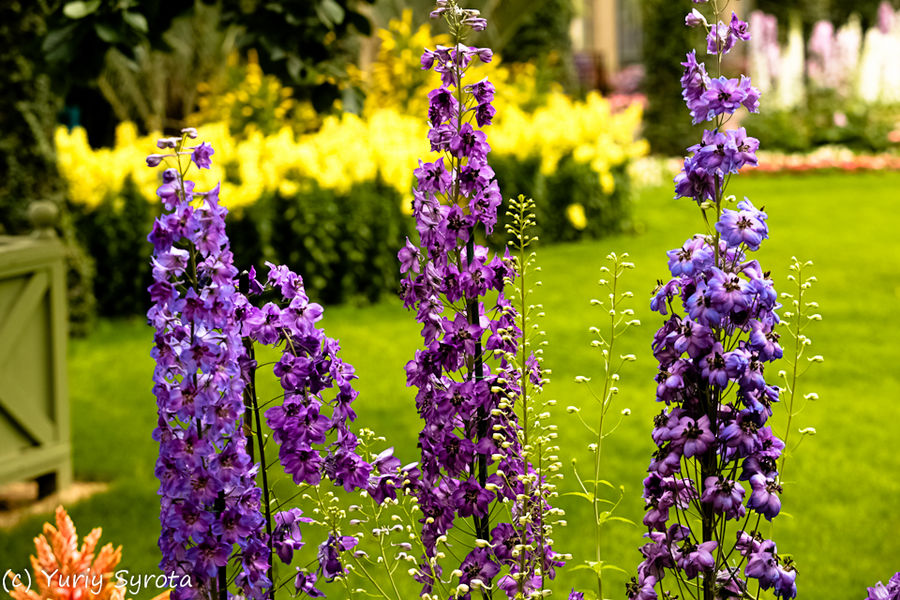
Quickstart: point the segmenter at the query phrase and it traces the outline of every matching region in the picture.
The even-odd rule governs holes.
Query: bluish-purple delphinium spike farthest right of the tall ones
[[[707,51],[719,69],[721,56],[749,39],[735,15],[730,25],[710,26],[694,9],[686,21],[707,27]],[[784,450],[767,425],[780,391],[764,374],[766,363],[783,354],[774,331],[780,304],[768,273],[748,257],[768,238],[767,215],[748,199],[736,209],[723,207],[729,175],[755,166],[759,146],[743,128],[723,126],[741,104],[755,112],[759,93],[743,76],[710,78],[693,51],[684,66],[691,115],[714,127],[688,148],[693,155],[675,178],[676,198],[693,198],[704,216],[714,210],[716,222],[668,252],[672,278],[660,282],[651,301],[668,316],[652,344],[657,400],[666,408],[654,419],[657,450],[643,494],[649,541],[628,597],[657,598],[671,572],[679,589],[698,599],[743,597],[751,579],[761,590],[793,598],[791,560],[757,532],[763,517],[772,520],[781,510],[777,460]],[[729,521],[738,523],[736,540],[726,539]],[[742,557],[736,566],[729,562],[735,551]],[[702,595],[699,584],[696,595],[694,586],[682,585],[697,578]]]

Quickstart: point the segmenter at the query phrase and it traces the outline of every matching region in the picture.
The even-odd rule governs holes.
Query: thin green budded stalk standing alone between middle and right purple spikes
[[[568,412],[575,414],[582,425],[594,436],[595,441],[588,446],[592,455],[593,478],[585,479],[579,472],[576,461],[572,460],[572,471],[575,480],[578,482],[580,491],[569,492],[566,495],[577,496],[583,498],[591,505],[594,524],[594,545],[596,547],[596,557],[594,560],[586,560],[584,564],[578,565],[576,569],[589,569],[594,572],[597,577],[597,598],[603,598],[603,571],[617,570],[623,571],[621,568],[607,564],[602,557],[600,543],[602,540],[603,526],[610,521],[620,521],[624,523],[634,524],[632,521],[619,517],[614,514],[624,495],[624,487],[614,486],[609,481],[601,478],[601,466],[603,455],[603,440],[612,435],[619,427],[622,419],[631,411],[624,408],[619,413],[619,418],[615,424],[610,426],[609,412],[613,406],[614,397],[619,393],[618,382],[619,373],[625,363],[634,362],[636,357],[634,354],[624,353],[617,354],[618,343],[622,335],[631,327],[640,325],[640,321],[634,318],[634,310],[630,308],[630,299],[633,294],[628,290],[623,290],[621,279],[626,271],[633,269],[634,264],[629,262],[628,254],[618,255],[610,253],[606,260],[609,266],[601,267],[600,271],[604,273],[604,279],[599,281],[599,285],[606,291],[605,299],[593,299],[591,304],[599,306],[606,311],[608,319],[603,327],[591,327],[590,331],[596,336],[591,342],[591,346],[599,348],[602,357],[602,388],[598,393],[591,385],[591,378],[579,375],[575,378],[576,383],[587,386],[599,408],[599,419],[595,424],[589,423],[581,414],[581,408],[570,406]],[[608,500],[601,497],[601,488],[608,487],[618,492],[618,498]],[[624,571],[623,571],[624,572]]]

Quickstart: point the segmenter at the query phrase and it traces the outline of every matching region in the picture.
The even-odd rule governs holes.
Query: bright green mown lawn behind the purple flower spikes
[[[798,427],[815,427],[818,435],[789,463],[783,503],[792,516],[780,517],[775,527],[779,549],[797,562],[800,598],[861,598],[867,585],[900,568],[898,190],[900,174],[878,173],[745,177],[732,189],[769,213],[772,239],[758,258],[776,283],[785,286],[794,255],[815,261],[818,277],[812,296],[824,321],[809,333],[815,353],[826,362],[801,383],[820,400],[796,421]],[[623,372],[617,400],[632,414],[604,448],[604,477],[625,486],[621,514],[640,521],[651,418],[659,410],[649,343],[660,319],[650,314],[648,297],[655,280],[666,276],[665,251],[699,231],[702,220],[691,202],[671,200],[669,188],[643,193],[635,212],[638,235],[540,249],[544,285],[536,300],[547,314],[545,365],[553,374],[546,393],[563,407],[587,406],[586,390],[573,378],[598,373],[587,330],[603,316],[589,304],[600,293],[599,269],[611,250],[628,252],[637,265],[625,284],[635,293],[643,325],[629,332],[624,347],[639,360]],[[421,339],[412,315],[397,301],[327,307],[324,325],[341,340],[344,358],[360,376],[358,423],[388,435],[398,455],[414,460],[419,423],[403,369]],[[107,321],[70,348],[76,475],[113,483],[109,493],[70,507],[71,514],[83,533],[100,525],[104,540],[123,544],[123,566],[132,573],[151,573],[158,560],[150,342],[141,320]],[[777,368],[770,368],[770,378]],[[566,457],[586,461],[588,434],[563,410],[555,419],[567,468]],[[783,431],[778,411],[775,423]],[[572,489],[571,478],[563,486]],[[558,549],[576,558],[592,552],[585,506],[567,503],[568,528],[556,535]],[[41,520],[0,533],[0,565],[24,566]],[[607,559],[632,572],[640,560],[641,534],[641,527],[610,526],[603,548]],[[583,571],[562,571],[559,579],[560,590],[589,583]],[[606,591],[622,598],[622,577],[610,575]],[[327,592],[343,597],[336,587]]]

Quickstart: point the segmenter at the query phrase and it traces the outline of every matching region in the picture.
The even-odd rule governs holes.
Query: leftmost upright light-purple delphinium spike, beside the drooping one
[[[225,235],[226,209],[219,188],[198,192],[185,179],[190,154],[198,167],[209,166],[212,148],[182,150],[196,132],[163,139],[179,168],[163,172],[157,194],[165,208],[148,239],[153,244],[153,306],[147,316],[155,328],[153,375],[160,444],[156,475],[161,497],[160,550],[163,572],[190,576],[173,598],[210,597],[221,592],[225,567],[239,548],[235,584],[260,598],[271,586],[266,575],[267,539],[261,534],[261,492],[247,452],[243,429],[244,356],[233,265]],[[151,155],[148,165],[165,158]],[[263,557],[263,560],[260,560]]]

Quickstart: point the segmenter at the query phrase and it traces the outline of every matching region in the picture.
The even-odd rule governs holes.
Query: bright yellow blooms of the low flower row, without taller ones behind
[[[488,142],[497,154],[540,156],[545,174],[571,152],[576,161],[590,163],[604,191],[611,193],[611,169],[647,152],[646,143],[635,138],[640,119],[637,105],[612,114],[609,103],[598,95],[575,102],[552,93],[533,113],[499,106],[495,124],[488,128]],[[252,128],[234,136],[225,123],[202,125],[200,130],[216,154],[212,169],[199,174],[198,183],[211,186],[221,181],[222,198],[230,207],[252,204],[265,192],[290,193],[307,179],[346,192],[355,183],[380,176],[405,195],[417,161],[434,159],[426,121],[389,108],[366,118],[349,113],[326,117],[321,129],[301,136],[288,126],[269,136]],[[59,166],[72,200],[96,206],[117,193],[129,175],[152,200],[158,171],[144,166],[144,157],[155,148],[157,137],[140,137],[132,123],[122,123],[113,148],[92,150],[84,130],[59,128]]]

